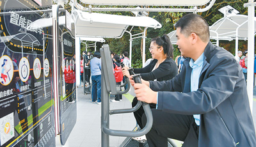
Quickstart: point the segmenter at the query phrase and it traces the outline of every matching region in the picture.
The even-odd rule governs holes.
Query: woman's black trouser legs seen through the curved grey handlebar
[[[134,107],[137,103],[138,103],[138,99],[137,99],[137,97],[134,97],[133,100],[132,100],[132,107]],[[150,106],[151,109],[156,108],[156,104],[149,104],[149,106]],[[135,117],[138,125],[142,129],[143,125],[142,125],[142,119],[141,118],[142,118],[142,115],[144,114],[144,109],[143,109],[142,105],[137,111],[133,112],[133,114],[134,114],[134,117]]]

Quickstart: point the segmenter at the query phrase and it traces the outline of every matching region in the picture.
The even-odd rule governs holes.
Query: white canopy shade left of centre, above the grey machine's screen
[[[128,26],[161,28],[157,20],[150,17],[128,17],[105,13],[88,13],[76,10],[76,36],[120,38]]]

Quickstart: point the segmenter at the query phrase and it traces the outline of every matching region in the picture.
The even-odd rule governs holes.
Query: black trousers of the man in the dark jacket
[[[198,146],[199,127],[193,115],[172,114],[151,109],[153,125],[146,134],[148,146],[168,146],[167,138],[184,141],[182,147]],[[145,114],[142,117],[143,126],[147,122]]]

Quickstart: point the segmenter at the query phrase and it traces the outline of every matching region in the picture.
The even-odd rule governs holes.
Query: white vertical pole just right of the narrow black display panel
[[[80,38],[76,38],[76,86],[80,85]]]

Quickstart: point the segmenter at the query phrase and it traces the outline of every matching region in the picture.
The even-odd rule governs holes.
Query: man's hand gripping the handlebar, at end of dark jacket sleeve
[[[146,81],[148,82],[148,81]],[[134,93],[138,100],[146,102],[148,104],[157,104],[157,92],[152,91],[146,84],[134,83]]]

